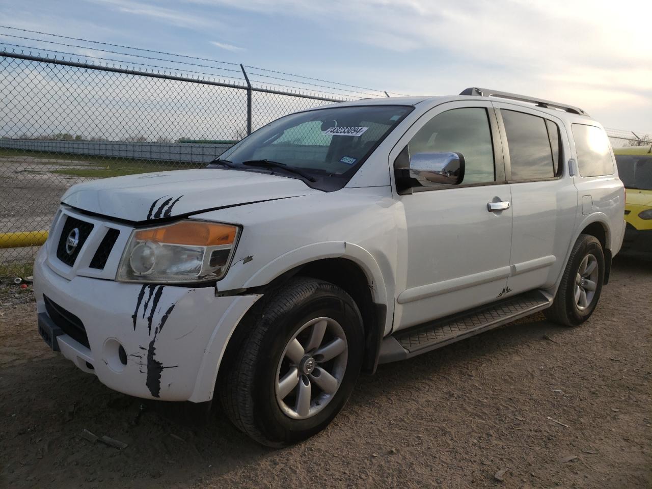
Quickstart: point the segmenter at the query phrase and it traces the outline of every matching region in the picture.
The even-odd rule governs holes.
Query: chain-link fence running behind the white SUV
[[[282,115],[389,96],[306,77],[299,78],[314,81],[297,82],[242,65],[228,68],[240,78],[220,80],[205,72],[115,67],[96,59],[104,63],[0,51],[0,276],[31,274],[35,245],[71,185],[199,168]],[[273,87],[261,86],[263,77]],[[649,135],[608,134],[614,147],[652,145]]]

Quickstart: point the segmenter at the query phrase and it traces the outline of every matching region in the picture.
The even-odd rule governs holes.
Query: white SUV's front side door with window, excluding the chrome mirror
[[[507,287],[512,242],[511,193],[490,102],[428,111],[394,147],[391,162],[406,146],[408,155],[461,153],[465,173],[458,185],[397,192],[406,220],[399,237],[405,273],[396,288],[394,331],[496,301]],[[491,211],[489,203],[507,208]]]

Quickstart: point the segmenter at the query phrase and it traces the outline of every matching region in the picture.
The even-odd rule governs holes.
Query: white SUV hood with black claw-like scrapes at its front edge
[[[298,179],[207,168],[80,183],[61,201],[98,215],[141,222],[316,193],[321,192]]]

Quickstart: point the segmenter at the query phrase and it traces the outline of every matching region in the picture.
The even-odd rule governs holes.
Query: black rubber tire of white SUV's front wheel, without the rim
[[[363,361],[363,322],[348,293],[323,280],[293,278],[261,301],[247,318],[248,335],[220,376],[218,389],[224,411],[239,430],[268,447],[284,447],[323,430],[346,404]],[[333,318],[346,334],[346,370],[321,411],[292,419],[276,400],[276,369],[293,335],[306,321],[321,317]]]

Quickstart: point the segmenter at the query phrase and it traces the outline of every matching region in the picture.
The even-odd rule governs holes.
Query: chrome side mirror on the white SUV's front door
[[[415,153],[409,157],[409,177],[421,186],[459,185],[464,179],[461,153]]]

